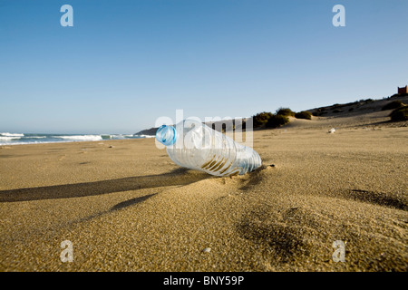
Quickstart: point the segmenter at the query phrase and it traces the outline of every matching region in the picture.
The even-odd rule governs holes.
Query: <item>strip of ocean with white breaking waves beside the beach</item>
[[[98,141],[98,140],[123,140],[154,138],[149,135],[132,134],[33,134],[33,133],[0,133],[0,145],[19,145],[37,143]]]

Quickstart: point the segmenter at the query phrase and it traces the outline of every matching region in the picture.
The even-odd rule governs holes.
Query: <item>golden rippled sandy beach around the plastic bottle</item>
[[[254,131],[264,165],[233,178],[153,139],[1,146],[0,270],[406,271],[408,127],[387,114]]]

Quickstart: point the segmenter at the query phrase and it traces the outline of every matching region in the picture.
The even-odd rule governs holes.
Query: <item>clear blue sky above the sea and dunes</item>
[[[0,132],[379,99],[408,84],[407,15],[406,0],[0,0]]]

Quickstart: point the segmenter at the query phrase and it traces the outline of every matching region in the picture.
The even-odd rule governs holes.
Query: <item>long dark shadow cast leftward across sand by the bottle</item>
[[[183,186],[211,176],[204,172],[189,173],[189,169],[174,169],[159,175],[138,176],[93,182],[63,184],[28,189],[0,190],[0,202],[29,201],[53,198],[82,198],[112,192],[150,189],[164,186]],[[118,208],[121,208],[118,206]]]

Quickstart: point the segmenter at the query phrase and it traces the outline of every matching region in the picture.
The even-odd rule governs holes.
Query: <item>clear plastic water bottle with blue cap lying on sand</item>
[[[257,152],[194,120],[161,126],[156,140],[176,164],[216,176],[242,175],[262,164]]]

